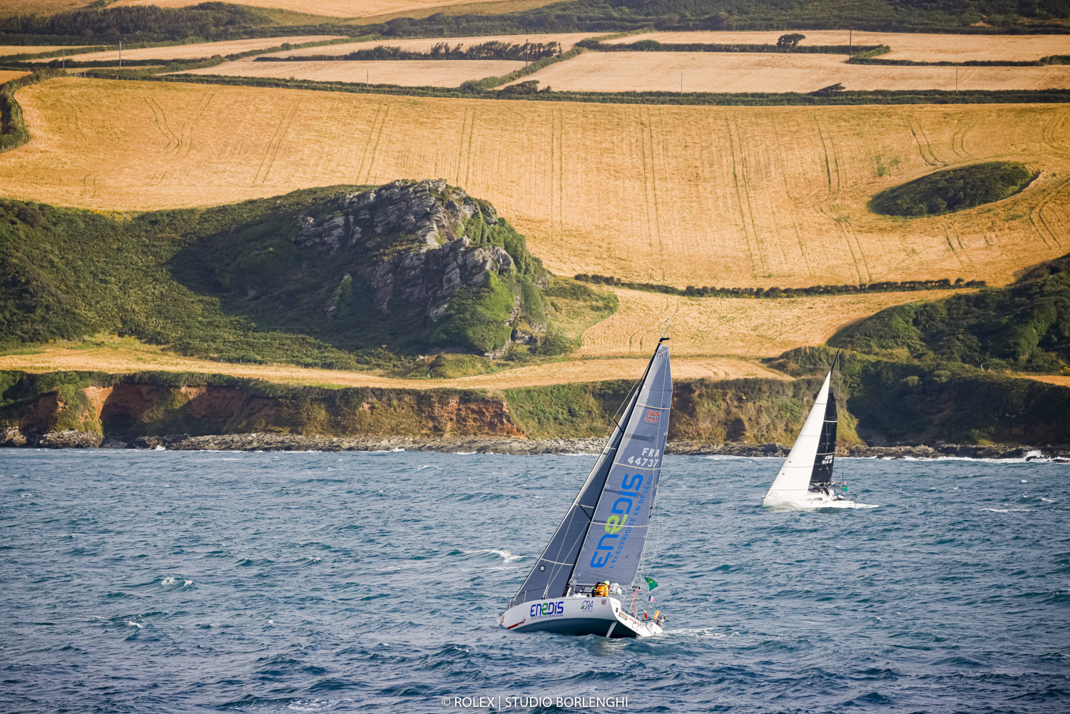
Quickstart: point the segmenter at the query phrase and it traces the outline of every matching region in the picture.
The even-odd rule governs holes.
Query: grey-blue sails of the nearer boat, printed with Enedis
[[[510,606],[561,597],[569,587],[636,577],[669,432],[667,340],[658,341],[621,422]]]

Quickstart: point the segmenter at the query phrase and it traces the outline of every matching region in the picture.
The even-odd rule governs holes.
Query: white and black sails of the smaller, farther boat
[[[769,487],[766,498],[791,500],[809,492],[810,484],[824,485],[832,481],[837,423],[836,395],[831,386],[835,369],[836,360],[832,360],[832,366],[813,400],[802,430],[784,465],[780,467],[780,473]]]

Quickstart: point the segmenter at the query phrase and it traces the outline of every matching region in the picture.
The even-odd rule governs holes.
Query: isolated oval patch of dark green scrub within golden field
[[[907,218],[964,211],[1009,198],[1039,176],[1014,162],[988,162],[936,171],[883,191],[869,203],[874,213]]]

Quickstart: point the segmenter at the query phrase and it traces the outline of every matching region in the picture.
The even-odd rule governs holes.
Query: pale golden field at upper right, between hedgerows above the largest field
[[[775,52],[584,52],[524,80],[579,92],[812,92],[956,88],[952,66],[847,64],[843,55]],[[1070,65],[961,67],[959,89],[1065,89]]]

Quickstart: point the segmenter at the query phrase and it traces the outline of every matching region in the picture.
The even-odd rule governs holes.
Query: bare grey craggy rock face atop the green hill
[[[403,303],[437,319],[462,286],[478,288],[488,273],[505,275],[515,268],[503,248],[476,245],[467,233],[475,215],[480,225],[495,225],[493,208],[442,180],[395,181],[347,194],[339,198],[338,211],[320,219],[303,216],[294,241],[326,256],[356,252],[373,258],[361,277],[382,313]],[[324,312],[336,308],[332,302]]]

